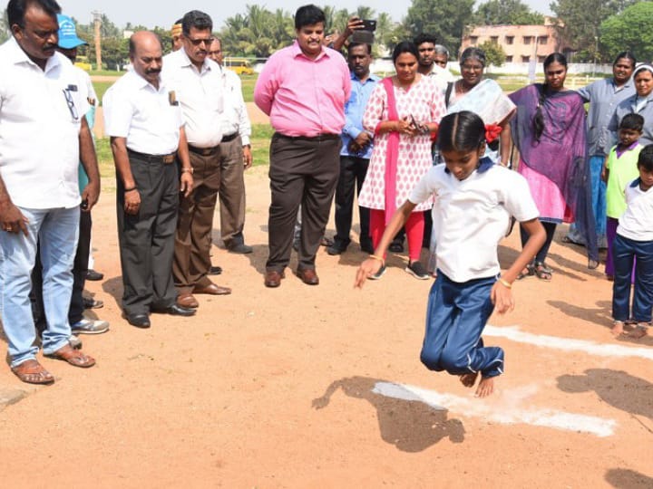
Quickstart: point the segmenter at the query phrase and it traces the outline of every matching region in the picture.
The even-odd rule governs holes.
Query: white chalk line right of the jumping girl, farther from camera
[[[614,344],[602,344],[590,340],[574,340],[571,338],[560,338],[558,336],[546,336],[521,331],[518,326],[485,326],[483,336],[494,336],[506,338],[507,340],[527,343],[544,348],[551,348],[563,351],[583,351],[590,355],[599,357],[638,357],[646,360],[653,360],[653,349],[631,348]]]

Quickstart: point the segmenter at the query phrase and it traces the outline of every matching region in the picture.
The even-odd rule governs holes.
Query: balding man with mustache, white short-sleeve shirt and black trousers
[[[133,71],[102,99],[116,167],[122,309],[137,328],[150,327],[151,312],[195,313],[176,304],[171,273],[179,194],[190,195],[193,179],[181,110],[161,81],[161,59],[156,34],[133,34]]]

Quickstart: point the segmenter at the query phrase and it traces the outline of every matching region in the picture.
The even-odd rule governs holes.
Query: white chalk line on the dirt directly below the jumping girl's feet
[[[527,390],[530,390],[528,387]],[[537,390],[537,388],[534,388]],[[455,411],[465,417],[481,417],[502,425],[526,424],[535,427],[550,427],[564,431],[588,433],[605,437],[612,436],[617,422],[614,419],[584,416],[554,409],[523,409],[513,406],[529,397],[523,389],[503,391],[496,402],[491,399],[462,398],[452,394],[442,394],[434,390],[418,388],[407,384],[377,382],[372,390],[387,398],[407,401],[420,401],[440,411]],[[510,406],[512,405],[512,406]]]

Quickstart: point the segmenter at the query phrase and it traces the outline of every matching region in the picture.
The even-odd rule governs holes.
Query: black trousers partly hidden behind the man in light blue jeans
[[[86,283],[86,272],[88,272],[88,257],[91,252],[91,227],[93,220],[90,212],[83,212],[80,209],[80,234],[77,242],[77,252],[73,263],[73,295],[68,310],[68,322],[74,324],[83,320],[83,288]],[[43,264],[41,264],[41,251],[36,250],[36,261],[32,271],[32,313],[36,331],[42,333],[46,327],[45,310],[43,303]]]

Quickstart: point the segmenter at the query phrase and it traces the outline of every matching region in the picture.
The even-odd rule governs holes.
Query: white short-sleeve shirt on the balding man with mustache
[[[137,72],[127,72],[104,93],[104,132],[127,139],[127,148],[168,155],[179,148],[183,126],[179,103],[163,82],[156,89]]]

